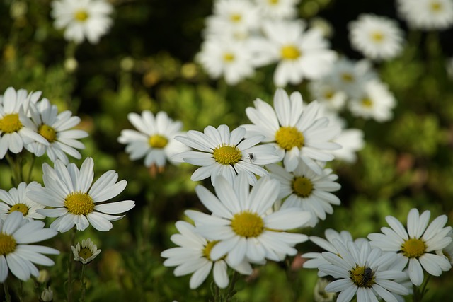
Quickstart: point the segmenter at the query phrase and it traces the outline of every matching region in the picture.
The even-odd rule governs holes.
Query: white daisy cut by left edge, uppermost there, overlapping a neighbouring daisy
[[[27,117],[28,105],[37,100],[41,93],[27,93],[24,89],[16,91],[6,88],[0,105],[0,159],[6,152],[19,153],[29,142],[38,141],[49,144],[38,134],[35,125]]]

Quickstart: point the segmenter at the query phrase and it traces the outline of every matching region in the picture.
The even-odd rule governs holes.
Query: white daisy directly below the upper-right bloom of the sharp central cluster
[[[341,187],[335,182],[338,176],[332,174],[332,169],[323,169],[318,174],[303,161],[299,161],[299,165],[291,173],[277,164],[266,165],[266,168],[270,171],[270,177],[280,182],[278,198],[285,198],[281,209],[298,207],[309,211],[312,214],[310,226],[315,226],[319,219],[326,219],[326,214],[333,214],[332,204],[341,203],[331,193]]]

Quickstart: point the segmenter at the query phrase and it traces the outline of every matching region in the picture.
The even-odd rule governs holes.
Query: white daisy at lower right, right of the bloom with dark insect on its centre
[[[430,211],[424,211],[420,215],[418,209],[411,209],[408,213],[407,229],[395,217],[386,216],[390,228],[383,227],[382,233],[368,236],[372,246],[385,252],[398,252],[405,266],[409,263],[409,277],[416,286],[423,283],[423,269],[428,274],[440,276],[442,271],[452,267],[446,257],[433,253],[452,242],[452,237],[448,236],[452,227],[444,227],[447,223],[446,215],[438,216],[428,226],[430,215]]]

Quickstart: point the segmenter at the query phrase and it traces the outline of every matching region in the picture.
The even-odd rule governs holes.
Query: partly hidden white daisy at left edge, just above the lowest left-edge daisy
[[[30,182],[28,185],[26,182],[21,182],[18,187],[13,187],[11,190],[6,192],[0,189],[0,220],[5,220],[8,214],[13,211],[20,211],[23,216],[28,220],[43,219],[44,216],[38,214],[36,210],[44,209],[42,204],[33,202],[28,198],[27,193],[41,185],[38,182]]]

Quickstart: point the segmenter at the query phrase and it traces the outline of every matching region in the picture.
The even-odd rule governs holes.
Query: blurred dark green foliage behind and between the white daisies
[[[89,227],[77,239],[91,237],[103,251],[89,265],[87,301],[208,301],[208,279],[191,291],[189,277],[174,277],[163,267],[160,252],[173,247],[169,240],[174,223],[184,219],[185,209],[204,210],[190,180],[195,167],[168,165],[164,173],[152,175],[142,161],[130,161],[124,146],[117,143],[122,129],[132,129],[128,112],[159,110],[181,120],[185,130],[202,131],[207,125],[228,124],[231,129],[248,122],[245,108],[261,98],[272,101],[275,87],[273,67],[257,71],[253,79],[236,86],[213,81],[193,62],[202,42],[204,18],[212,1],[113,0],[114,25],[98,45],[88,42],[75,52],[79,67],[69,72],[64,59],[71,52],[50,18],[50,1],[23,1],[28,10],[12,18],[10,7],[18,1],[0,1],[0,91],[8,86],[42,91],[60,110],[79,115],[81,129],[90,136],[82,141],[83,158],[95,161],[95,175],[114,169],[128,182],[120,199],[133,199],[136,207],[113,230],[101,233]],[[346,23],[359,13],[377,13],[396,18],[394,1],[306,0],[300,5],[302,18],[323,16],[333,23],[333,49],[360,58],[348,46]],[[400,22],[404,27],[404,23]],[[453,219],[453,80],[445,71],[452,56],[452,30],[440,33],[408,32],[404,53],[391,62],[377,64],[382,80],[389,84],[398,105],[394,120],[384,124],[348,116],[350,127],[363,129],[365,148],[355,164],[332,163],[342,189],[342,201],[334,214],[316,228],[304,230],[323,237],[326,228],[348,230],[365,237],[386,226],[385,216],[406,221],[409,209],[430,210]],[[287,87],[311,100],[306,83]],[[35,164],[33,180],[41,181]],[[73,161],[80,165],[81,161]],[[11,188],[11,172],[0,161],[0,187]],[[202,182],[210,187],[210,181]],[[69,252],[69,234],[59,234],[49,245],[62,252],[55,257],[50,285],[55,300],[65,298],[64,280]],[[320,251],[311,243],[297,246],[303,252]],[[257,267],[251,277],[236,285],[237,301],[312,301],[316,272],[291,269],[285,263],[269,262]],[[79,264],[76,269],[80,271]],[[42,288],[38,284],[38,289]],[[76,281],[75,292],[80,284]],[[426,301],[451,297],[452,272],[432,278]],[[35,284],[23,291],[33,296]]]

